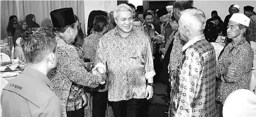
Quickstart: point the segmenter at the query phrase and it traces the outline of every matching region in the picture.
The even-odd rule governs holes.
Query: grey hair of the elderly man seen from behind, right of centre
[[[206,26],[206,16],[199,9],[187,9],[182,11],[179,24],[187,23],[194,30],[202,31]]]

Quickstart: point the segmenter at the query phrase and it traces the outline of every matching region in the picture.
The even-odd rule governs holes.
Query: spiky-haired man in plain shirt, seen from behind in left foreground
[[[62,117],[60,99],[52,92],[52,83],[46,76],[57,65],[55,35],[44,28],[29,29],[21,47],[28,66],[3,89],[3,116]]]

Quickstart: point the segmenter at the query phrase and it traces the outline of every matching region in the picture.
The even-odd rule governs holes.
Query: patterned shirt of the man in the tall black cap
[[[57,42],[57,67],[50,70],[48,78],[52,82],[53,89],[62,103],[62,114],[67,116],[67,99],[72,82],[87,87],[97,87],[101,78],[87,72],[73,44],[65,42],[64,37],[56,33]]]

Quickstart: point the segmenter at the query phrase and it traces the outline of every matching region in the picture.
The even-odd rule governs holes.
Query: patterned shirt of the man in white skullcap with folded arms
[[[250,77],[252,73],[253,51],[250,44],[242,39],[238,44],[231,42],[224,49],[221,54],[216,68],[216,75],[221,77],[221,85],[218,87],[218,101],[224,103],[228,94],[238,89],[250,88]],[[227,78],[225,75],[221,76],[221,68],[235,68],[236,76],[234,78]]]

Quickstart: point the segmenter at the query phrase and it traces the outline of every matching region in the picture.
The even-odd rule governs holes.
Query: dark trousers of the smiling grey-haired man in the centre
[[[115,117],[140,117],[146,99],[129,99],[127,101],[111,101]],[[143,107],[145,108],[145,107]],[[142,111],[143,110],[143,111]]]

